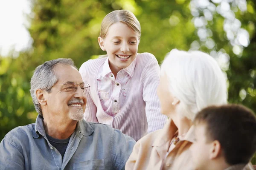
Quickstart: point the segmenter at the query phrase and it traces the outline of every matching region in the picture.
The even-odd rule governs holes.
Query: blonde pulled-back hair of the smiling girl
[[[138,39],[140,40],[140,35],[141,35],[140,22],[137,20],[135,15],[128,10],[116,10],[107,14],[102,20],[99,36],[102,38],[105,38],[106,35],[108,34],[108,29],[114,23],[118,23],[118,22],[124,23],[128,27],[130,27],[134,32],[138,34]]]

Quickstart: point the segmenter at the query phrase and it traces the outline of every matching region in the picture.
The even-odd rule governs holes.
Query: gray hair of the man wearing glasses
[[[33,103],[35,105],[35,110],[43,116],[42,108],[40,103],[38,102],[37,96],[35,94],[35,91],[37,89],[45,90],[48,93],[51,93],[52,86],[55,85],[55,83],[58,81],[54,68],[57,64],[62,65],[70,65],[73,66],[78,70],[78,68],[75,66],[72,59],[53,59],[47,62],[44,62],[44,64],[39,65],[31,78],[30,81],[30,94],[32,96]]]

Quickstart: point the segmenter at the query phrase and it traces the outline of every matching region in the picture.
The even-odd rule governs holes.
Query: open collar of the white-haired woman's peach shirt
[[[154,141],[154,143],[152,144],[152,146],[162,146],[166,143],[169,143],[172,140],[172,137],[175,135],[175,133],[177,133],[177,127],[174,124],[172,119],[168,119],[168,121],[166,122],[166,124],[164,125],[163,129],[160,130],[160,134],[158,136],[158,138]],[[189,141],[189,142],[195,142],[195,127],[194,125],[192,125],[188,132],[186,133],[186,135],[181,138],[181,141]]]

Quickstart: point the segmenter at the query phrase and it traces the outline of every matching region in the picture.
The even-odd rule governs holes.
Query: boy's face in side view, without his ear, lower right
[[[195,170],[207,170],[209,166],[211,142],[207,142],[206,125],[195,125],[195,142],[191,145],[192,161]]]

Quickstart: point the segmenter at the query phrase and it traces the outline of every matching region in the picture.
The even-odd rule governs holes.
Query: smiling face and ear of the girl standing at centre
[[[99,37],[98,41],[102,50],[107,51],[109,67],[114,75],[134,61],[140,42],[138,34],[121,22],[110,26],[106,37]]]

